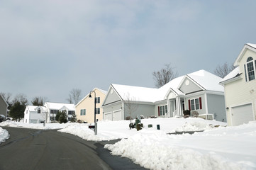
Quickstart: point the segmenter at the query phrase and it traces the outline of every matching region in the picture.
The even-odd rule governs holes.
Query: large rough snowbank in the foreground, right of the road
[[[249,123],[194,135],[140,130],[105,148],[148,169],[256,169],[255,141],[256,123]]]

